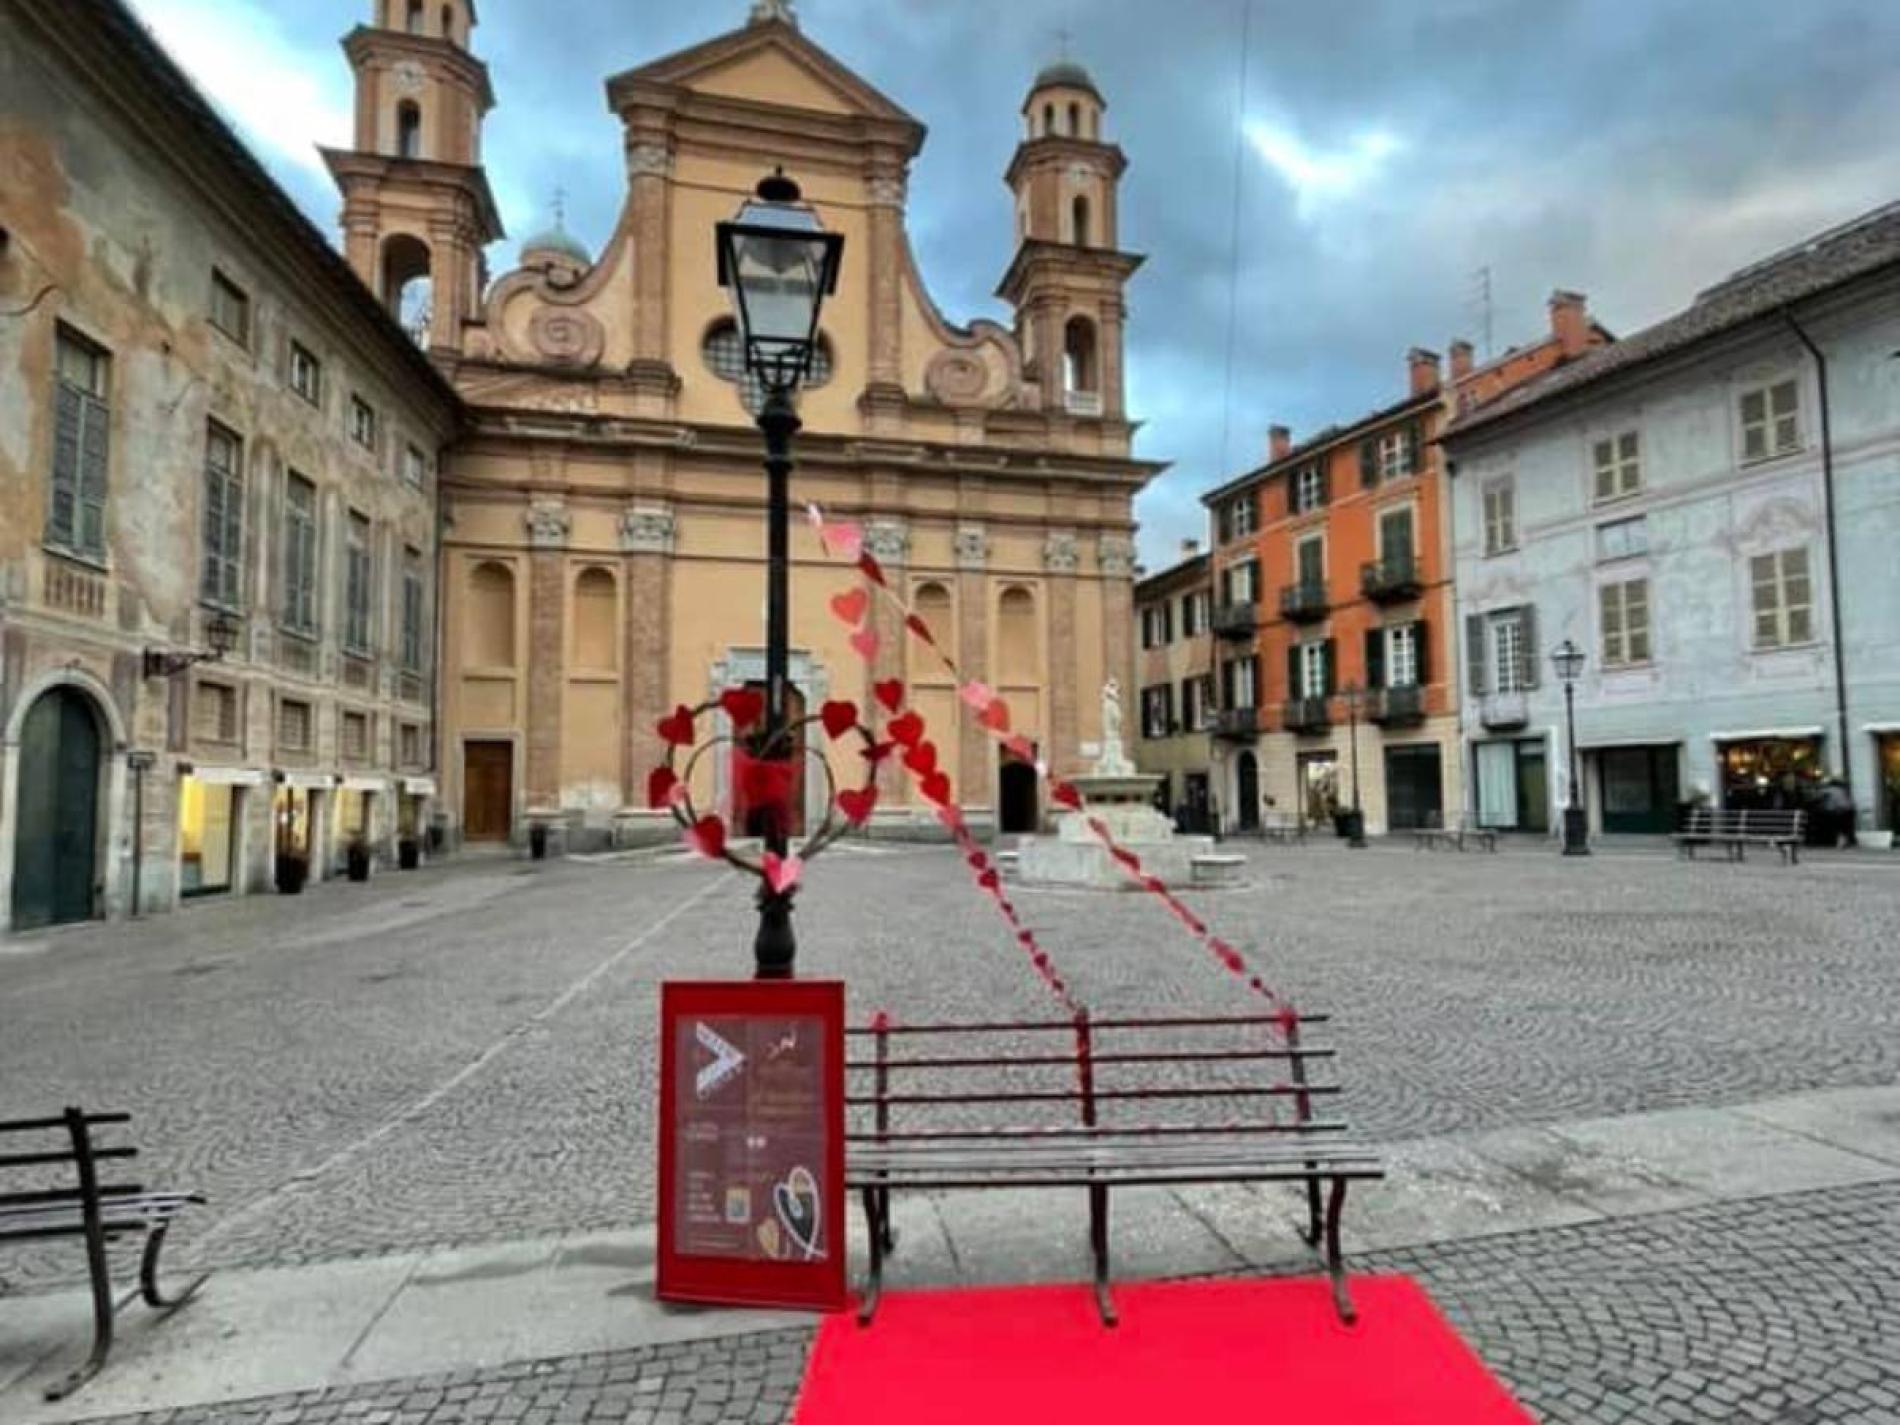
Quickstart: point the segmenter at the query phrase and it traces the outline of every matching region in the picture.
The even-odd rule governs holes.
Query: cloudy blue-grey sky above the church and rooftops
[[[350,139],[336,46],[370,0],[133,0],[325,228]],[[747,0],[481,0],[511,234],[557,186],[593,247],[623,179],[602,80]],[[1552,287],[1645,325],[1776,247],[1900,198],[1896,0],[798,0],[806,34],[922,118],[910,224],[960,319],[1003,315],[1016,112],[1064,30],[1130,160],[1123,245],[1150,566],[1197,494],[1395,399],[1404,352],[1535,336]],[[1244,42],[1243,42],[1244,36]],[[1246,74],[1243,104],[1243,68]],[[1235,194],[1239,192],[1239,224]],[[1235,241],[1235,228],[1239,241]],[[511,249],[492,255],[511,266]],[[1231,359],[1229,359],[1231,352]]]

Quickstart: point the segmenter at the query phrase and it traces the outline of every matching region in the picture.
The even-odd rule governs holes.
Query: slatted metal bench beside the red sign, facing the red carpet
[[[1113,1326],[1110,1189],[1288,1182],[1305,1191],[1305,1241],[1351,1322],[1345,1189],[1385,1170],[1343,1136],[1343,1121],[1313,1112],[1315,1098],[1340,1092],[1309,1077],[1334,1051],[1302,1036],[1324,1022],[1298,1016],[1284,1036],[1273,1015],[849,1030],[846,1186],[863,1195],[870,1233],[859,1320],[876,1313],[895,1248],[893,1189],[1087,1188],[1096,1307]],[[1262,1075],[1267,1068],[1279,1072]],[[1176,1108],[1150,1112],[1159,1102]],[[1282,1102],[1290,1119],[1275,1113]]]

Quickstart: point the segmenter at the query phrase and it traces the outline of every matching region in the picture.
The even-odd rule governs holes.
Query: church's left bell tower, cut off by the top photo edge
[[[469,49],[475,0],[372,0],[344,36],[355,76],[355,146],[323,150],[344,196],[344,253],[431,352],[462,348],[504,236],[481,125],[488,66]]]

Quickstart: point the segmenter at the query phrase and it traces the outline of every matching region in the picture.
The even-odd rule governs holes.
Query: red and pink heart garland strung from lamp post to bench
[[[1049,800],[1054,806],[1085,813],[1087,817],[1085,825],[1091,836],[1094,836],[1096,842],[1108,851],[1112,861],[1117,866],[1121,866],[1123,874],[1127,874],[1136,885],[1146,889],[1150,895],[1159,899],[1167,906],[1168,914],[1182,925],[1182,929],[1186,929],[1188,935],[1199,940],[1208,950],[1208,954],[1212,954],[1212,958],[1222,965],[1222,969],[1226,969],[1229,975],[1246,984],[1246,988],[1252,990],[1254,994],[1277,1005],[1275,1022],[1279,1024],[1282,1034],[1290,1032],[1292,1026],[1298,1022],[1298,1013],[1294,1011],[1292,1003],[1288,1003],[1282,996],[1279,996],[1265,982],[1265,978],[1246,961],[1246,956],[1243,956],[1229,940],[1214,935],[1208,923],[1201,916],[1197,916],[1167,885],[1167,882],[1163,882],[1159,876],[1150,874],[1142,866],[1142,861],[1134,851],[1115,842],[1106,821],[1102,821],[1100,817],[1087,815],[1087,804],[1085,798],[1081,796],[1081,790],[1074,783],[1056,777],[1047,762],[1037,760],[1036,745],[1028,737],[1011,732],[1009,707],[1003,703],[1003,699],[998,697],[998,694],[988,684],[963,676],[963,671],[958,667],[956,659],[952,659],[942,650],[942,646],[931,635],[931,629],[923,621],[923,618],[914,608],[910,608],[910,604],[906,604],[897,591],[891,589],[889,580],[884,574],[884,568],[866,549],[863,549],[863,540],[857,540],[855,543],[849,540],[849,532],[855,526],[840,526],[828,522],[825,519],[825,511],[815,504],[808,505],[806,511],[813,528],[819,534],[819,543],[825,545],[826,551],[836,551],[838,555],[851,559],[857,564],[859,574],[864,578],[864,585],[855,589],[855,593],[866,595],[864,606],[859,606],[855,600],[842,602],[844,595],[832,598],[832,612],[838,614],[846,625],[853,627],[849,642],[864,657],[864,661],[872,663],[878,650],[878,638],[870,631],[870,625],[864,623],[864,618],[868,614],[868,597],[872,595],[872,591],[876,591],[876,595],[882,595],[899,612],[904,627],[918,638],[918,642],[927,646],[937,656],[937,661],[942,665],[942,669],[956,680],[958,697],[977,714],[977,726],[980,726],[984,732],[996,737],[1011,756],[1018,758],[1020,762],[1028,762],[1030,766],[1036,768],[1037,777],[1047,783]],[[851,614],[853,618],[846,618],[846,614]],[[870,636],[863,638],[863,635]],[[895,714],[899,707],[902,707],[904,684],[895,678],[878,682],[874,684],[874,695],[887,712]],[[973,849],[980,851],[980,847],[977,847],[975,844],[975,838],[969,836],[967,826],[963,828],[961,836],[958,834],[958,826],[961,825],[961,813],[950,802],[948,777],[944,777],[942,771],[939,771],[935,766],[937,749],[923,741],[925,733],[923,718],[914,709],[906,711],[901,716],[895,716],[889,724],[885,724],[885,732],[895,743],[906,749],[904,768],[916,779],[920,794],[927,802],[939,808],[939,819],[950,828],[952,836],[958,840],[958,846],[965,849],[965,857]],[[929,754],[922,752],[923,747],[929,747]],[[980,880],[978,885],[982,885]],[[982,885],[982,889],[988,891],[992,887]],[[992,893],[999,897],[1001,904],[1005,906],[1005,914],[1013,912],[1013,906],[1007,906],[1007,897],[1001,897],[999,885]],[[1016,922],[1013,920],[1013,925]],[[1018,927],[1018,939],[1022,937],[1028,937],[1028,931],[1022,931]],[[1034,937],[1028,937],[1022,942],[1024,948],[1032,948]],[[1034,954],[1039,954],[1039,946],[1034,948]],[[1047,956],[1043,958],[1043,961],[1047,961]],[[1045,971],[1043,963],[1037,963],[1037,971],[1043,973],[1045,980],[1053,977],[1053,969]],[[1064,999],[1068,999],[1066,990],[1062,994]]]

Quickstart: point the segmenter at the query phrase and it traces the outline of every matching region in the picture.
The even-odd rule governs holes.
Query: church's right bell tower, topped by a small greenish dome
[[[1123,253],[1127,156],[1104,137],[1108,103],[1072,61],[1036,76],[1005,182],[1016,200],[1016,256],[998,296],[1016,308],[1024,367],[1045,410],[1123,420],[1123,289],[1142,258]]]

